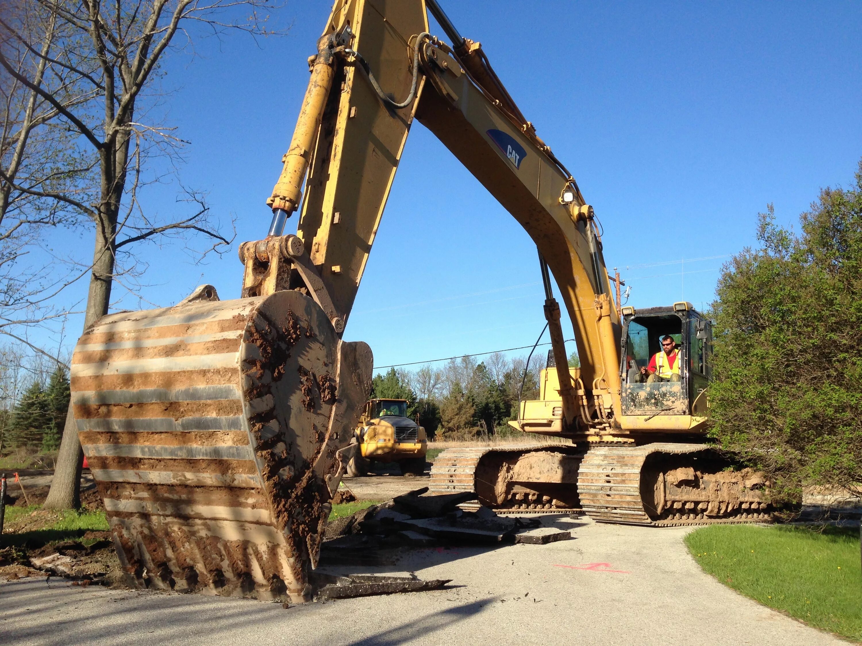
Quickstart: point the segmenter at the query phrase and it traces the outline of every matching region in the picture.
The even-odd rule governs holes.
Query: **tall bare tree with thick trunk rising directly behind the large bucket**
[[[177,154],[185,142],[153,117],[158,102],[159,63],[169,51],[189,47],[198,34],[220,35],[228,30],[268,34],[265,18],[256,9],[271,5],[266,0],[19,0],[41,16],[40,29],[17,28],[3,23],[6,38],[21,43],[37,60],[22,69],[0,51],[3,72],[31,92],[37,102],[50,106],[56,122],[64,124],[82,141],[85,159],[95,158],[97,184],[75,184],[84,193],[58,188],[51,183],[22,182],[8,177],[11,191],[33,200],[49,200],[72,209],[91,223],[94,245],[91,261],[80,270],[89,275],[90,287],[84,329],[108,313],[111,289],[117,278],[135,275],[133,245],[171,237],[197,235],[207,241],[201,254],[227,251],[233,241],[222,233],[203,196],[189,191],[194,208],[179,220],[160,221],[141,208],[144,173],[154,155]],[[177,42],[175,42],[175,40]],[[68,73],[66,84],[75,87],[74,102],[64,101],[38,78],[40,65],[54,65]],[[44,79],[44,72],[43,77]],[[155,111],[157,112],[157,111]],[[144,115],[144,116],[142,116]],[[148,120],[153,120],[150,122]],[[24,150],[22,156],[26,156]],[[87,168],[86,165],[81,168]],[[24,199],[24,198],[22,198]],[[123,261],[128,261],[123,264]],[[72,276],[72,279],[74,276]],[[72,416],[60,445],[59,460],[45,506],[79,506],[79,481],[83,453]]]

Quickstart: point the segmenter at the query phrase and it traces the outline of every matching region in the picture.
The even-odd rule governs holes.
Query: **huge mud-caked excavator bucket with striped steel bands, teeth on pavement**
[[[111,314],[72,403],[122,568],[140,587],[309,600],[372,353],[295,290]]]

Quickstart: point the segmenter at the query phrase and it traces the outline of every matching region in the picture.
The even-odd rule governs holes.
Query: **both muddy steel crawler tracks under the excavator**
[[[507,469],[511,472],[519,457],[530,453],[533,464],[527,477],[509,475],[517,481],[515,487],[500,494],[497,483],[505,480]],[[565,469],[543,468],[542,457],[564,461]],[[728,470],[722,459],[704,444],[598,446],[586,453],[560,444],[449,449],[434,461],[430,488],[439,493],[476,491],[481,504],[501,513],[583,510],[598,522],[658,527],[771,522],[776,509],[764,479],[750,469]],[[578,502],[525,493],[531,486],[540,489],[529,476],[542,473],[550,475],[546,481],[559,482],[558,491],[560,486],[577,490]],[[496,495],[491,493],[495,485]]]

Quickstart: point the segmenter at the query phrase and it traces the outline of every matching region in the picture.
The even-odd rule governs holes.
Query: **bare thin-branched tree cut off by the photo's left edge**
[[[73,270],[35,253],[45,233],[74,227],[84,214],[46,191],[90,202],[97,157],[78,146],[79,135],[59,109],[79,109],[95,93],[54,58],[70,30],[40,3],[10,0],[0,13],[0,333],[45,353],[28,337],[62,322],[69,307],[53,299]],[[19,78],[26,79],[24,84]]]

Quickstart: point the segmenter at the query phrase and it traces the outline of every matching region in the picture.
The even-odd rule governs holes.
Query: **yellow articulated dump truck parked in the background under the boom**
[[[422,475],[428,438],[425,429],[407,417],[407,400],[365,402],[354,437],[359,453],[347,463],[347,475],[366,475],[372,462],[397,462],[403,475]]]

